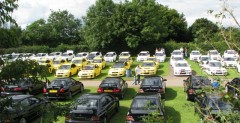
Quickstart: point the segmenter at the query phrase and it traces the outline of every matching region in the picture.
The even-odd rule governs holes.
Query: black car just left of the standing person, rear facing
[[[110,93],[119,98],[123,98],[128,88],[128,84],[121,77],[106,77],[99,85],[98,93]]]

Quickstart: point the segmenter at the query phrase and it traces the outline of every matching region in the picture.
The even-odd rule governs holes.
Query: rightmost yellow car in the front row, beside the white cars
[[[140,65],[141,73],[140,75],[156,75],[157,74],[157,64],[154,61],[143,61]]]

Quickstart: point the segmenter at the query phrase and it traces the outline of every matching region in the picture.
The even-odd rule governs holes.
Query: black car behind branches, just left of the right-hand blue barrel
[[[194,100],[197,94],[201,94],[204,87],[211,87],[211,81],[205,76],[189,76],[183,80],[184,91],[187,100]]]

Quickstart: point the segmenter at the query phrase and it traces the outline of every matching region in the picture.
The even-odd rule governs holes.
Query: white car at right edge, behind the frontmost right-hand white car
[[[237,60],[234,57],[224,57],[222,60],[222,66],[227,68],[236,68],[237,64]]]

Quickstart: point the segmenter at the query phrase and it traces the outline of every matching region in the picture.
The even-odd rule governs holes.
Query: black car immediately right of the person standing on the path
[[[167,80],[163,79],[161,76],[146,76],[142,79],[138,93],[157,92],[161,94],[163,99],[165,99],[165,81]]]

